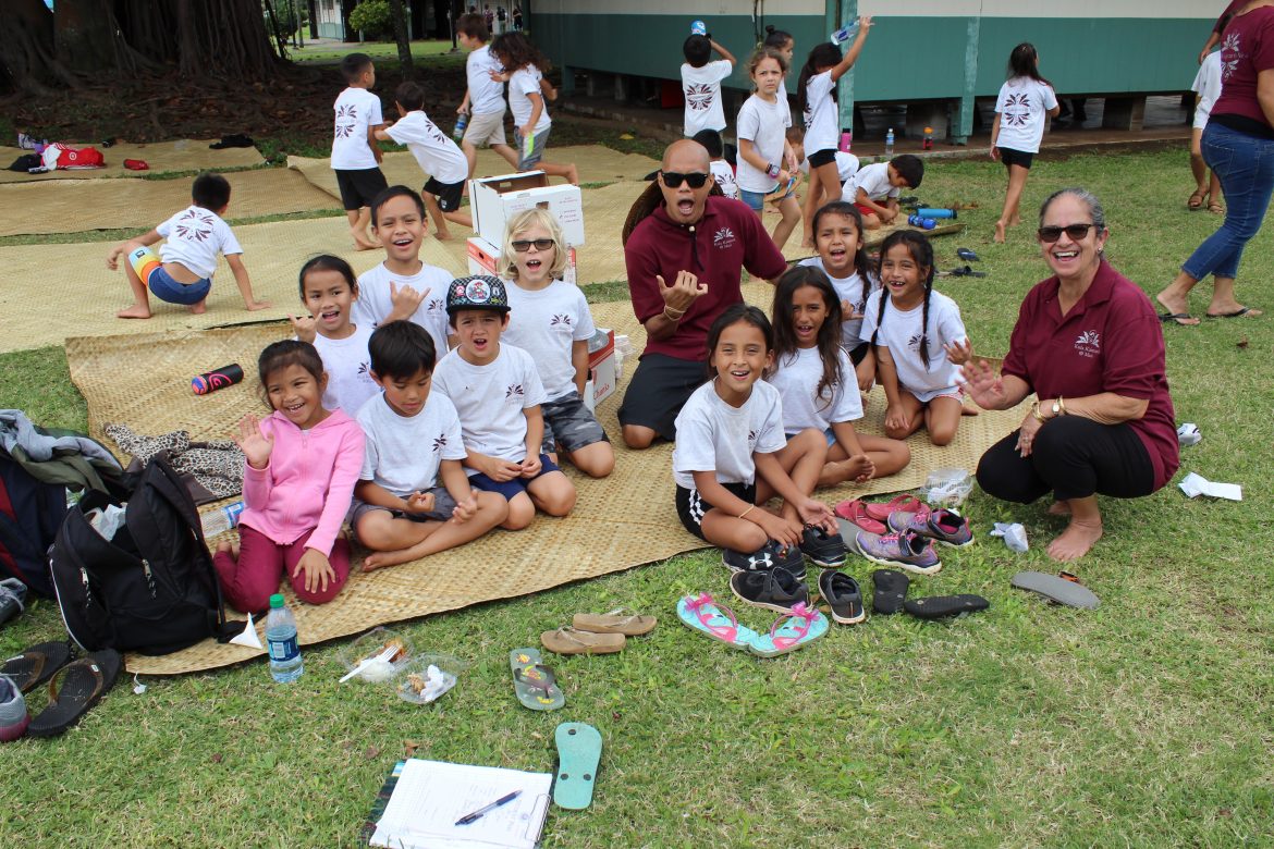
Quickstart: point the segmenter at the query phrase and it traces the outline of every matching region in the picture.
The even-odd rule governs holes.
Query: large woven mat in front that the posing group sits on
[[[749,300],[764,304],[769,286],[749,284]],[[627,303],[592,307],[599,326],[626,333],[641,350],[645,335]],[[246,412],[265,411],[257,400],[252,365],[260,350],[288,336],[288,326],[245,326],[211,331],[82,337],[66,342],[71,379],[88,401],[89,430],[122,421],[138,433],[186,429],[194,438],[225,437]],[[209,396],[190,392],[190,375],[205,367],[237,361],[248,378]],[[580,490],[575,513],[564,519],[538,517],[519,532],[496,531],[482,540],[412,564],[371,574],[355,570],[338,598],[322,607],[301,605],[289,594],[303,644],[362,633],[376,625],[417,619],[499,598],[512,598],[572,580],[619,572],[703,547],[687,533],[673,504],[671,446],[633,452],[618,440],[615,412],[636,367],[624,365],[619,391],[599,407],[606,432],[615,438],[614,474],[601,481],[568,470]],[[861,423],[879,433],[884,397],[877,391]],[[992,442],[1020,421],[1020,411],[984,412],[962,421],[954,443],[935,448],[922,434],[910,442],[911,466],[893,477],[865,486],[843,485],[820,498],[834,503],[851,495],[913,489],[933,468],[972,470]],[[103,439],[111,444],[108,439]],[[260,656],[260,650],[205,640],[166,657],[130,656],[127,667],[148,675],[177,675],[215,668]]]

